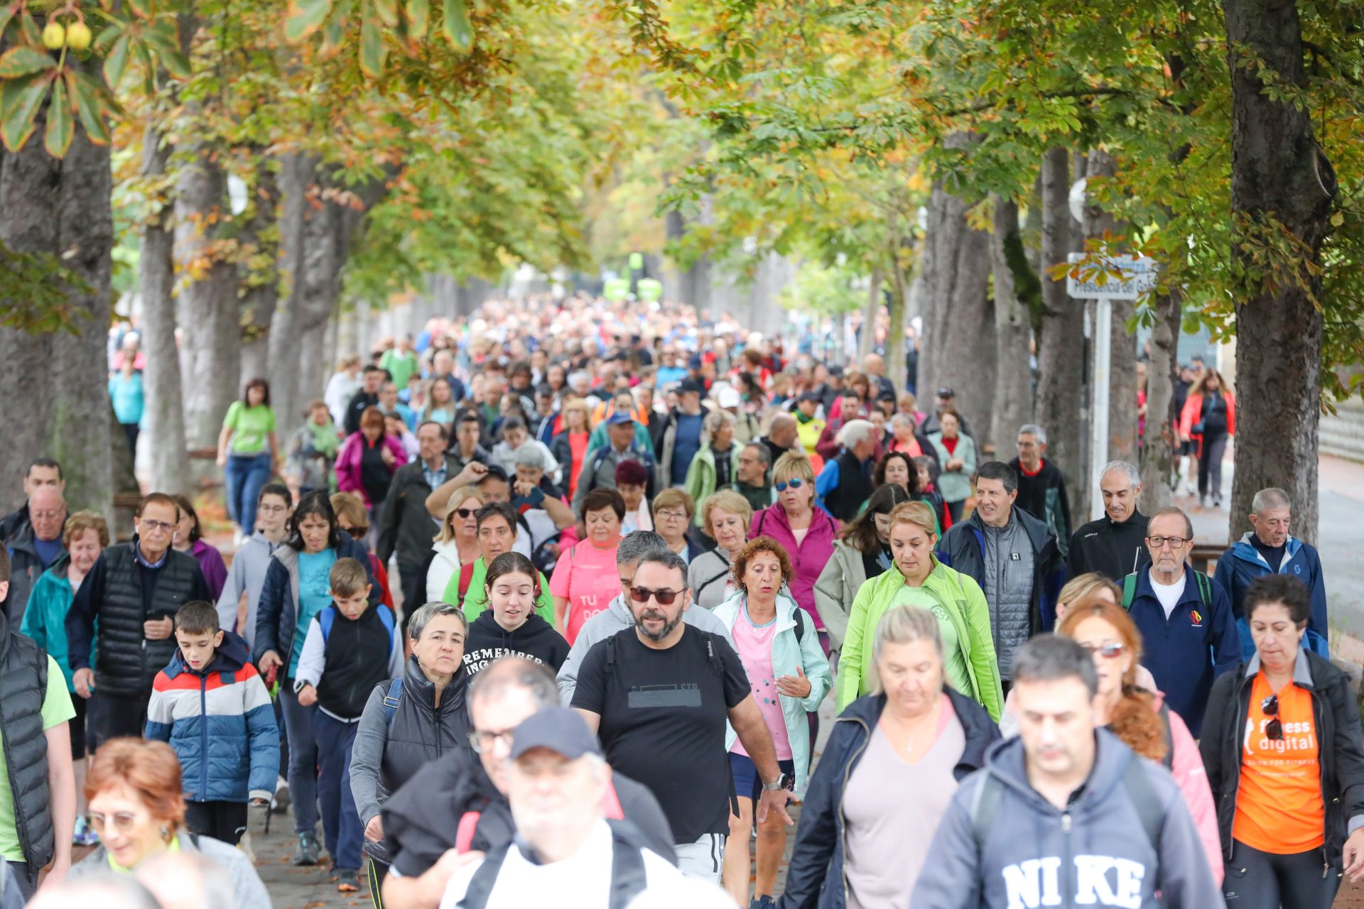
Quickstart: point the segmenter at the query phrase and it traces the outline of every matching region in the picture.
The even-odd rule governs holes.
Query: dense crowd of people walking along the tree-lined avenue
[[[494,303],[342,358],[282,443],[252,378],[229,557],[161,492],[113,541],[34,461],[0,522],[14,891],[270,905],[252,804],[381,909],[1326,909],[1364,876],[1357,706],[1285,492],[1209,576],[1133,465],[1073,526],[1046,427],[1003,461],[951,388],[921,410],[878,353],[790,346]],[[1184,376],[1218,504],[1234,402]]]

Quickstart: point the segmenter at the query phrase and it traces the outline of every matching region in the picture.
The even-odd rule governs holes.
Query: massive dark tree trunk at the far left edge
[[[90,74],[100,78],[98,68]],[[23,413],[0,433],[0,463],[10,476],[7,495],[16,497],[18,489],[8,484],[29,462],[56,458],[71,506],[108,514],[115,443],[105,353],[113,249],[109,149],[91,144],[76,121],[67,157],[57,161],[42,147],[45,127],[44,113],[19,153],[0,153],[0,243],[18,253],[56,256],[89,292],[67,294],[75,322],[71,333],[0,330],[0,388]],[[121,433],[116,442],[124,444]]]

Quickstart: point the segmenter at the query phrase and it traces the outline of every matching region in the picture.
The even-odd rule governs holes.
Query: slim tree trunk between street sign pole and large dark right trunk
[[[1155,514],[1170,504],[1170,476],[1174,470],[1174,375],[1178,368],[1178,289],[1155,297],[1155,326],[1151,328],[1151,358],[1146,364],[1146,435],[1142,437],[1142,514]]]

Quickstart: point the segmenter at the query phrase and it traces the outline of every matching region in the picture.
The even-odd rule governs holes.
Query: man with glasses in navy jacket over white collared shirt
[[[1142,632],[1142,665],[1198,739],[1213,679],[1241,661],[1241,645],[1230,597],[1187,564],[1192,546],[1188,515],[1178,508],[1151,515],[1146,523],[1151,564],[1123,581],[1123,605]]]

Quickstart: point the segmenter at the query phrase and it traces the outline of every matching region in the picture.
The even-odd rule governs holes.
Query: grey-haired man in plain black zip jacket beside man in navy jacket
[[[1065,561],[1072,578],[1097,571],[1117,582],[1151,560],[1146,551],[1146,515],[1136,510],[1142,472],[1136,465],[1113,461],[1103,467],[1099,491],[1103,517],[1071,536]]]

